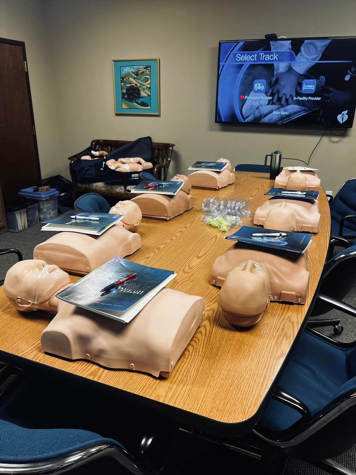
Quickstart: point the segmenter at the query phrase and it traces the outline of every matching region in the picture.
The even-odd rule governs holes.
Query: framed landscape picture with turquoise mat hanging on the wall
[[[159,115],[159,59],[112,61],[115,114]]]

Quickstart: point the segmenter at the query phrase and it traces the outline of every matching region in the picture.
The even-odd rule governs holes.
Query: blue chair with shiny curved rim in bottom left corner
[[[0,474],[62,474],[107,456],[131,474],[147,474],[121,444],[86,430],[26,429],[0,420],[0,439]]]

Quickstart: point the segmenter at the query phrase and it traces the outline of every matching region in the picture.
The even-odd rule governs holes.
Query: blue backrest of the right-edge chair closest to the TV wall
[[[347,180],[330,203],[331,218],[338,223],[349,214],[356,214],[356,178]],[[347,219],[344,227],[356,231],[356,218]]]

